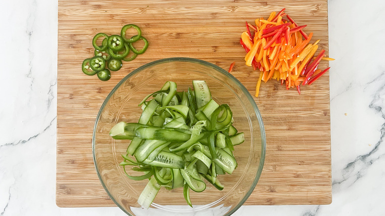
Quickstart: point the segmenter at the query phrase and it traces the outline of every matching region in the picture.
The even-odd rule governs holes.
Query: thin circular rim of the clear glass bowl
[[[260,131],[261,131],[261,142],[262,142],[262,144],[261,144],[261,146],[262,146],[261,158],[260,158],[260,162],[259,162],[258,172],[257,172],[257,175],[256,175],[254,181],[253,181],[253,184],[251,185],[249,191],[247,191],[247,193],[243,197],[243,199],[228,214],[226,214],[226,216],[230,216],[231,214],[233,214],[236,210],[238,210],[246,202],[246,200],[249,198],[250,194],[253,192],[253,190],[254,190],[255,186],[257,185],[257,182],[258,182],[258,180],[259,180],[259,178],[261,176],[261,173],[262,173],[262,170],[263,170],[263,167],[264,167],[264,163],[265,163],[265,154],[266,154],[265,127],[264,127],[264,123],[263,123],[263,120],[262,120],[261,113],[260,113],[260,111],[259,111],[259,109],[257,107],[257,104],[255,103],[253,97],[250,95],[249,91],[247,91],[246,87],[244,87],[243,84],[240,83],[237,78],[235,78],[233,75],[231,75],[231,73],[225,71],[224,69],[222,69],[221,67],[219,67],[217,65],[214,65],[212,63],[209,63],[209,62],[206,62],[206,61],[203,61],[203,60],[200,60],[200,59],[185,58],[185,57],[174,57],[174,58],[165,58],[165,59],[155,60],[153,62],[147,63],[147,64],[145,64],[145,65],[135,69],[134,71],[128,73],[123,79],[121,79],[116,84],[116,86],[111,90],[110,94],[108,94],[107,98],[104,100],[102,106],[99,109],[98,115],[96,116],[96,120],[95,120],[94,130],[93,130],[93,134],[92,134],[92,156],[93,156],[93,160],[94,160],[94,165],[95,165],[96,173],[98,174],[98,178],[99,178],[100,182],[102,183],[103,188],[106,190],[108,196],[114,201],[116,206],[118,206],[127,215],[132,216],[130,213],[125,211],[125,209],[123,207],[121,207],[116,202],[115,198],[111,195],[111,193],[109,192],[108,188],[106,187],[105,183],[103,182],[103,180],[102,180],[102,178],[100,176],[100,172],[98,170],[98,166],[97,166],[97,162],[96,162],[96,155],[95,155],[95,135],[96,135],[95,132],[96,132],[96,126],[98,124],[98,121],[99,121],[100,115],[102,113],[102,110],[106,106],[107,102],[110,100],[111,96],[115,93],[115,91],[120,87],[120,85],[123,84],[128,78],[130,78],[131,76],[135,75],[136,73],[141,72],[143,69],[148,68],[150,66],[157,65],[157,64],[160,64],[160,63],[175,62],[175,61],[176,62],[198,63],[198,64],[202,64],[202,65],[206,65],[206,66],[212,67],[212,68],[216,69],[218,72],[223,73],[225,76],[230,78],[241,89],[241,91],[246,95],[247,99],[249,100],[249,102],[251,103],[252,107],[254,108],[255,114],[258,117],[258,124],[259,124]]]

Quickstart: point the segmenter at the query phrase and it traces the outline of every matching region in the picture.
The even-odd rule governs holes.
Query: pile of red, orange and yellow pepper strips
[[[281,80],[286,89],[296,87],[301,94],[301,83],[310,85],[330,69],[317,69],[319,62],[334,60],[325,57],[324,49],[314,58],[319,40],[309,43],[313,33],[307,35],[303,31],[307,25],[298,26],[284,10],[278,14],[272,12],[267,20],[256,19],[256,26],[246,22],[247,31],[241,35],[240,44],[247,52],[246,65],[261,71],[255,97],[259,95],[261,81],[267,82],[271,78]],[[288,20],[283,18],[285,15]]]

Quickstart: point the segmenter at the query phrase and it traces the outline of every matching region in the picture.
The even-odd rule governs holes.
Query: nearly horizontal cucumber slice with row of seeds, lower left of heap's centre
[[[151,160],[144,160],[144,164],[155,166],[155,167],[164,167],[164,168],[173,168],[173,169],[180,169],[183,168],[185,165],[185,161],[182,160],[182,157],[166,151],[160,151],[153,161]]]

